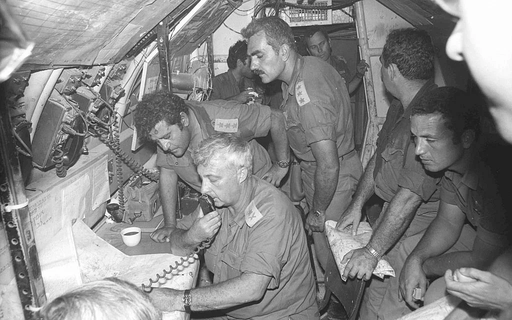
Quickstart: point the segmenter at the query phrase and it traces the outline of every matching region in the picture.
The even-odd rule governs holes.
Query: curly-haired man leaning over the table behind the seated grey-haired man
[[[177,228],[176,201],[178,178],[201,190],[201,178],[191,158],[199,143],[216,133],[236,133],[249,141],[253,157],[253,173],[273,185],[279,185],[288,172],[277,163],[272,165],[267,151],[254,138],[270,131],[280,159],[289,161],[288,139],[282,114],[269,106],[236,101],[184,101],[167,93],[146,94],[137,104],[135,125],[138,133],[158,144],[156,164],[160,169],[160,199],[164,226],[151,234],[156,242],[182,243],[197,238],[195,229],[188,229],[197,218],[197,211],[180,220]]]

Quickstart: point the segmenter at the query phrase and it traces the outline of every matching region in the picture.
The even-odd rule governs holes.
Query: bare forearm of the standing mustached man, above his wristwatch
[[[314,178],[313,208],[322,211],[327,210],[334,197],[339,175],[339,162],[327,160],[324,158],[317,161]]]

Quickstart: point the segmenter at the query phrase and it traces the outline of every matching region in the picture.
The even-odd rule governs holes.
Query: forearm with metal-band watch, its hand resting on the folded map
[[[380,222],[373,231],[370,245],[380,254],[385,254],[407,230],[416,215],[421,198],[409,189],[399,188],[381,213]]]

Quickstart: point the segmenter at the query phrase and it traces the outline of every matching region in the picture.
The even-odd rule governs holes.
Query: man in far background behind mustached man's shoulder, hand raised
[[[352,95],[357,87],[359,87],[362,78],[368,71],[368,68],[370,67],[368,63],[366,63],[365,60],[359,61],[356,66],[355,75],[351,76],[345,58],[342,56],[332,55],[331,39],[325,29],[321,27],[309,27],[306,30],[304,41],[306,42],[310,55],[326,61],[336,69],[339,75],[342,76],[343,81],[345,81],[349,94]]]

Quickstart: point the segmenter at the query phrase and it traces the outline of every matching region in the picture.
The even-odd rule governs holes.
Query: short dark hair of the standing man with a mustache
[[[260,31],[265,32],[267,43],[275,53],[279,53],[282,45],[288,45],[291,50],[297,51],[291,28],[283,19],[270,16],[252,20],[247,27],[242,29],[242,36],[249,39]]]

